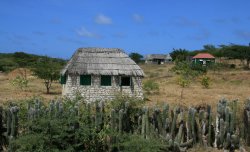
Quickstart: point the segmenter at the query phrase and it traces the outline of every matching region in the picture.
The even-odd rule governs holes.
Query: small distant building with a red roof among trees
[[[198,53],[192,58],[192,62],[206,66],[215,63],[215,57],[210,53]]]

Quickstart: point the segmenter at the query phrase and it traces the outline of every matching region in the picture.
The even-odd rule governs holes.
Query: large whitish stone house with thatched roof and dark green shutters
[[[143,98],[143,70],[121,49],[79,48],[61,71],[62,95],[104,101],[117,93]]]

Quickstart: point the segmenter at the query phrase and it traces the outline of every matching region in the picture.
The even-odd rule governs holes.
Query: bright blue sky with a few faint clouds
[[[249,0],[1,0],[0,52],[70,58],[79,47],[127,53],[250,42]]]

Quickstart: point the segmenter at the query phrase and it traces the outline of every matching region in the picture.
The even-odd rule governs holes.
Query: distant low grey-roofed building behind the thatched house
[[[169,54],[149,54],[145,57],[146,64],[165,64],[172,63],[172,57]]]

